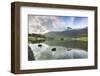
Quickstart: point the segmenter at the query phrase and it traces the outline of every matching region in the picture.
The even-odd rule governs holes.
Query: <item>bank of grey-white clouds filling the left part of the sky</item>
[[[28,16],[29,33],[43,34],[49,31],[63,31],[65,23],[57,16]]]

